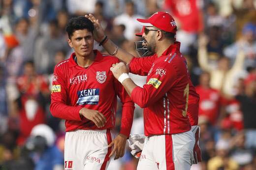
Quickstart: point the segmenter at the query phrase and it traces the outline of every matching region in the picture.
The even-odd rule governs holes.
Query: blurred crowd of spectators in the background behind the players
[[[175,18],[200,95],[203,162],[192,170],[256,170],[256,0],[0,0],[0,170],[64,170],[64,121],[49,103],[53,69],[72,53],[68,19],[93,13],[137,56],[135,19],[157,11]],[[96,42],[95,49],[107,53]],[[116,133],[121,109],[119,102]],[[143,134],[139,107],[131,133]],[[109,170],[135,170],[137,162],[127,148]]]

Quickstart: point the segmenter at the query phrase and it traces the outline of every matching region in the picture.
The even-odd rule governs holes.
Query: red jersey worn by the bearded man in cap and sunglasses
[[[132,100],[144,109],[145,135],[162,135],[186,132],[191,129],[188,113],[190,87],[192,83],[186,59],[175,42],[160,57],[133,58],[129,64],[131,73],[148,75],[143,88],[136,87]],[[193,88],[194,89],[194,88]],[[194,91],[193,102],[198,102]],[[192,122],[197,124],[198,107],[191,107]]]

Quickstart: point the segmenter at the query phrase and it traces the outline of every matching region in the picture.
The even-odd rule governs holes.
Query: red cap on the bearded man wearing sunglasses
[[[156,26],[163,31],[176,33],[176,23],[168,12],[156,12],[148,19],[137,19],[143,26]]]

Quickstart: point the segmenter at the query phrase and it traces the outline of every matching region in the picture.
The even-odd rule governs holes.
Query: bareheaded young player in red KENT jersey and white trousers
[[[118,62],[93,50],[93,23],[85,17],[72,18],[66,27],[70,58],[54,70],[51,95],[53,116],[65,119],[65,170],[105,170],[112,155],[124,155],[133,120],[134,103],[109,70]],[[117,95],[123,102],[120,134],[112,141]]]

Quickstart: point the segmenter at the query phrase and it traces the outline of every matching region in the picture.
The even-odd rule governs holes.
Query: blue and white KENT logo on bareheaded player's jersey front
[[[99,89],[86,89],[77,92],[78,100],[76,104],[98,104],[99,99]]]

